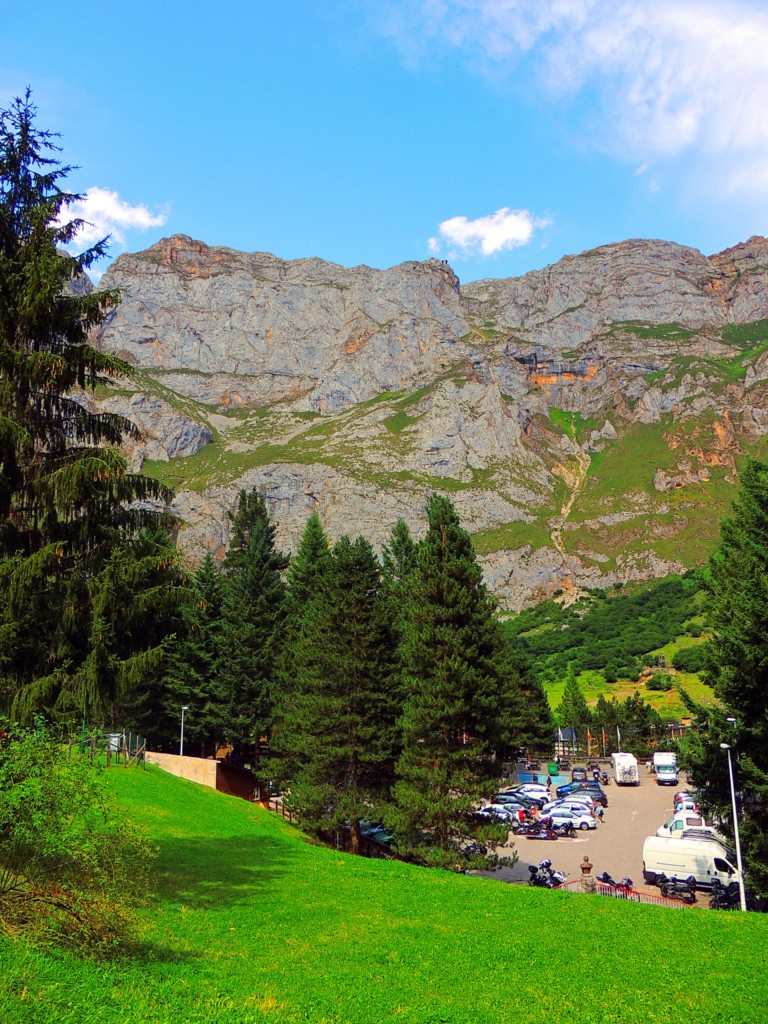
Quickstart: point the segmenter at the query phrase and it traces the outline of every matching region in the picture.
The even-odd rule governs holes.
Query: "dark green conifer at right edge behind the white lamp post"
[[[713,630],[708,681],[719,707],[685,696],[696,731],[683,743],[705,809],[732,837],[726,753],[734,758],[744,868],[753,890],[768,895],[768,465],[749,459],[733,512],[706,578]],[[735,721],[728,721],[735,719]]]

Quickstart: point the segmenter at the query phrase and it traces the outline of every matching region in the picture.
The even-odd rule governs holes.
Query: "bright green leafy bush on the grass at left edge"
[[[44,728],[0,740],[0,927],[106,950],[130,936],[153,849],[108,806],[103,769]]]

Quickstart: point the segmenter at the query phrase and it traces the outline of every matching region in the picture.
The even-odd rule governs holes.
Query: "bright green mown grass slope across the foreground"
[[[160,847],[144,945],[99,965],[0,938],[8,1024],[764,1019],[761,915],[355,859],[158,769],[110,780]]]

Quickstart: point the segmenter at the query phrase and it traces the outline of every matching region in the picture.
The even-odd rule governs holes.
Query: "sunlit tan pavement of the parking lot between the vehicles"
[[[594,864],[593,874],[608,871],[614,879],[629,876],[636,889],[647,889],[643,883],[643,840],[653,836],[656,828],[672,816],[672,799],[678,786],[658,785],[653,776],[641,773],[640,785],[616,785],[611,781],[605,787],[608,807],[602,824],[580,833],[577,839],[537,840],[522,836],[509,837],[509,846],[499,847],[504,854],[514,849],[519,857],[513,868],[493,872],[492,877],[507,882],[524,882],[528,879],[528,864],[538,864],[549,857],[554,867],[565,871],[568,879],[581,878],[580,864],[585,854]]]

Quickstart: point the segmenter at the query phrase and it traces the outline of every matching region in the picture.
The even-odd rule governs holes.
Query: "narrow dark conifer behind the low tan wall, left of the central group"
[[[272,726],[286,618],[288,559],[275,549],[274,534],[263,498],[241,490],[224,557],[218,675],[229,737],[253,746],[257,767],[260,739]]]

